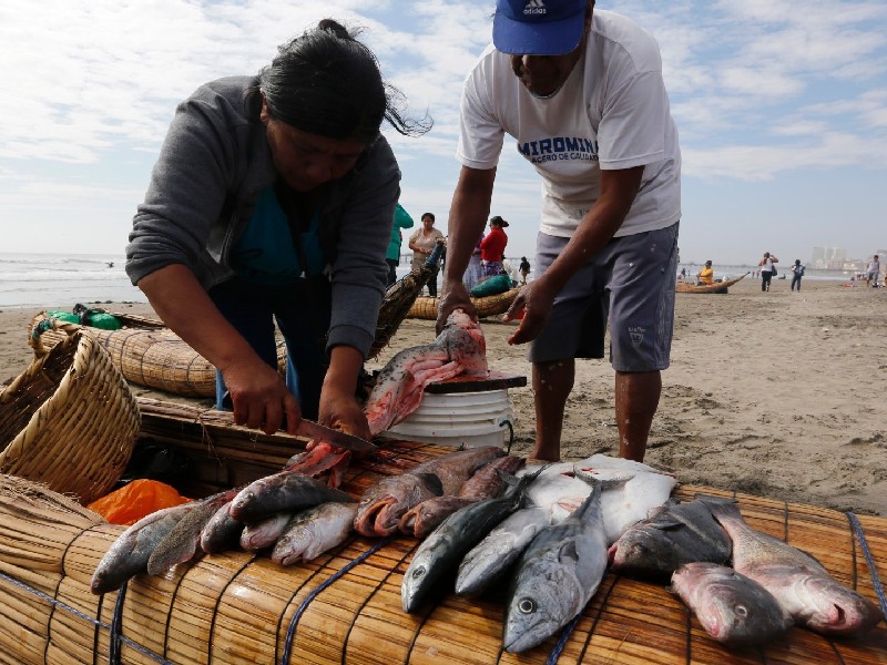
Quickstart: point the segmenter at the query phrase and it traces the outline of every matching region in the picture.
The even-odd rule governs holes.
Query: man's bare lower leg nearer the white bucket
[[[575,360],[533,362],[536,446],[531,458],[558,462],[561,459],[563,409],[575,380]]]

